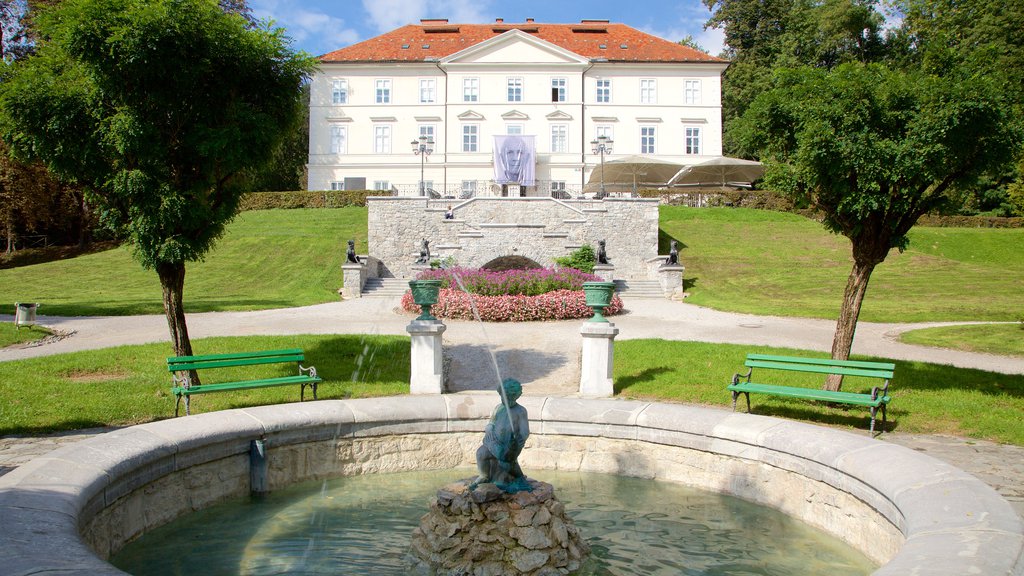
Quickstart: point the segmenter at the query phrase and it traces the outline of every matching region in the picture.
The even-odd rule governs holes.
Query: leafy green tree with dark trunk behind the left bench
[[[299,118],[314,63],[215,0],[65,0],[36,23],[36,55],[0,85],[2,135],[89,187],[156,270],[174,352],[190,355],[185,262],[233,217],[240,174]]]

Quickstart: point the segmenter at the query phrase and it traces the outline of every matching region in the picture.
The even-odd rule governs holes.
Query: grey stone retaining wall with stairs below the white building
[[[449,204],[455,219],[444,219]],[[412,278],[423,239],[431,258],[479,268],[499,256],[525,256],[544,266],[554,258],[604,240],[615,278],[649,279],[657,256],[657,200],[603,201],[553,198],[367,199],[369,253],[385,277]]]

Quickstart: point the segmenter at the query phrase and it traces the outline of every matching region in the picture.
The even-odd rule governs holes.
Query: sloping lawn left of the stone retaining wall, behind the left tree
[[[205,261],[186,264],[185,312],[291,307],[332,301],[346,243],[367,250],[366,208],[243,212]],[[163,314],[157,273],[127,247],[0,270],[0,314],[42,302],[52,316]]]

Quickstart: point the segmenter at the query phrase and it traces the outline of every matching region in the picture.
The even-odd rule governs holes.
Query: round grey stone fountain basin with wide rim
[[[471,466],[497,395],[321,401],[132,426],[0,478],[0,574],[124,574],[104,559],[250,486]],[[1024,523],[969,474],[900,446],[801,422],[621,400],[524,397],[522,467],[610,472],[727,493],[814,525],[876,575],[1024,575]],[[557,490],[557,487],[556,487]]]

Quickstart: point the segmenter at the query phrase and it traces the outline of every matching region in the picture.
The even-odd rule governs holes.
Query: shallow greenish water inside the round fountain
[[[306,483],[146,533],[114,559],[135,576],[409,574],[409,534],[436,486],[468,469]],[[537,470],[559,487],[594,550],[585,575],[862,576],[863,554],[739,498],[609,475]]]

